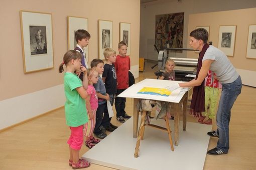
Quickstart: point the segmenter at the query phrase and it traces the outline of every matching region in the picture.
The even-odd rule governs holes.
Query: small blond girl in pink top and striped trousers
[[[89,116],[89,121],[84,126],[84,135],[86,137],[85,145],[89,148],[92,148],[95,144],[98,143],[99,139],[94,138],[92,135],[92,132],[95,127],[96,123],[96,110],[98,107],[98,97],[96,90],[93,86],[93,84],[96,84],[98,82],[98,72],[96,71],[96,68],[89,68],[87,69],[88,74],[88,89],[87,89],[87,98],[86,98],[86,107],[87,107],[87,113]]]

